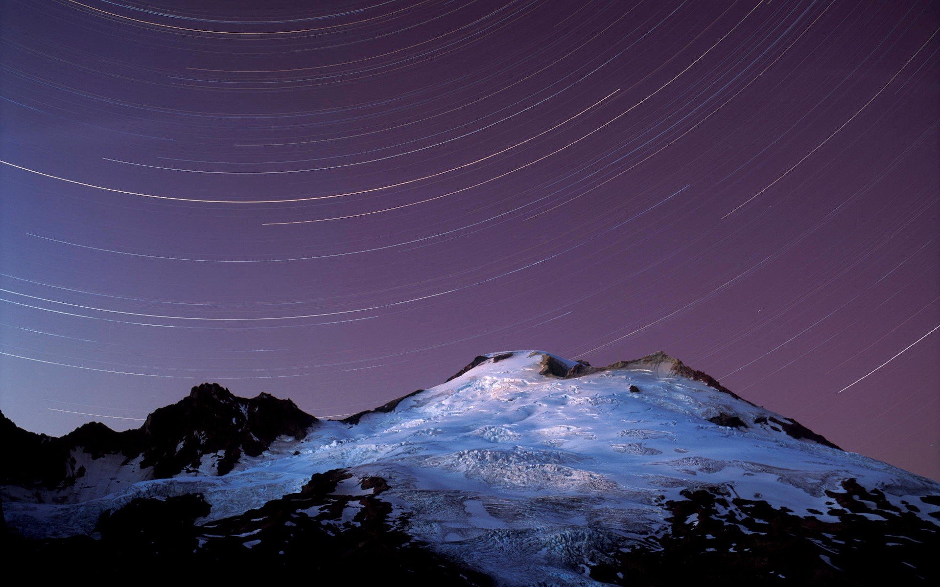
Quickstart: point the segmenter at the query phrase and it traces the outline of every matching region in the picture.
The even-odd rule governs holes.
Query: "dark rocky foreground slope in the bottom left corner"
[[[233,584],[288,577],[317,585],[493,584],[403,532],[406,519],[394,516],[380,497],[389,488],[384,478],[357,479],[346,486],[355,494],[348,495],[340,484],[351,478],[341,469],[316,473],[297,493],[202,526],[194,521],[210,508],[200,495],[139,499],[104,514],[98,540],[8,536],[0,547],[31,568],[34,579],[70,576],[94,565],[96,578],[113,580],[143,574],[149,581],[208,578]]]

